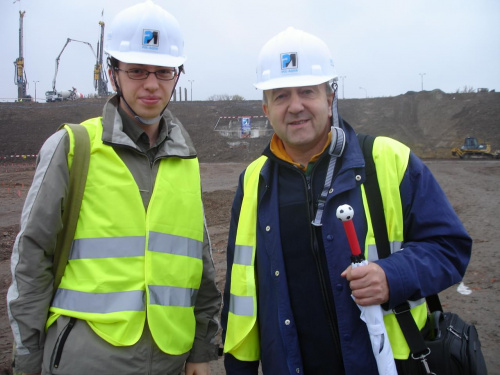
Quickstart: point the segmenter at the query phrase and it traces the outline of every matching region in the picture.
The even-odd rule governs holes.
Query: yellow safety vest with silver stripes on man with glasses
[[[129,346],[141,337],[147,316],[162,351],[186,353],[203,272],[198,160],[163,159],[145,211],[134,177],[101,141],[100,118],[83,125],[91,140],[88,177],[47,328],[60,315],[75,317],[110,344]],[[70,145],[71,162],[72,134]]]

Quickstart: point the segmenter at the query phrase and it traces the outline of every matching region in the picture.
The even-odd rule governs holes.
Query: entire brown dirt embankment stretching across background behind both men
[[[62,103],[0,104],[0,157],[36,154],[63,122],[100,116],[105,99]],[[243,148],[213,131],[223,116],[261,116],[260,101],[172,102],[169,109],[193,139],[201,162],[250,161],[269,136],[247,138]],[[449,158],[450,149],[475,136],[500,149],[500,93],[445,94],[409,92],[387,98],[339,100],[339,112],[356,131],[386,135],[410,146],[423,158]],[[228,120],[221,120],[228,121]]]

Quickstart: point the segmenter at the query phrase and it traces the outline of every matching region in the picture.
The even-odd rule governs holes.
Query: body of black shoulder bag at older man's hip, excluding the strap
[[[429,316],[430,331],[425,344],[430,350],[427,362],[437,375],[486,375],[481,342],[473,324],[457,314],[435,311]]]

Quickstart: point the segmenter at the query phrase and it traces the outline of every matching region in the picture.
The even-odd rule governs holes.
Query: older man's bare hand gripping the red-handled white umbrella
[[[381,305],[389,300],[387,278],[377,263],[349,266],[340,276],[347,278],[354,301],[360,306]]]

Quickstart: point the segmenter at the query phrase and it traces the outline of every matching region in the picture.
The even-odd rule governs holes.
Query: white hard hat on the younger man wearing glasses
[[[116,15],[105,51],[129,64],[178,67],[186,61],[179,22],[151,0]]]

